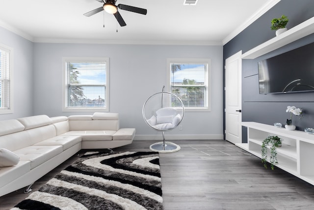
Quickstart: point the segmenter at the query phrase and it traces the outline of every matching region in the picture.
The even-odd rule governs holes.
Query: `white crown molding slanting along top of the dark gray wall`
[[[226,38],[224,38],[222,40],[223,45],[227,44],[230,40],[235,38],[236,35],[238,35],[241,31],[250,26],[254,21],[259,19],[263,14],[265,14],[265,12],[267,12],[269,9],[275,6],[279,1],[281,0],[268,0],[262,6],[262,8],[259,9],[255,14],[253,14],[246,22],[244,22],[242,25],[240,25],[238,28],[232,31]]]

